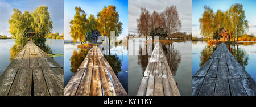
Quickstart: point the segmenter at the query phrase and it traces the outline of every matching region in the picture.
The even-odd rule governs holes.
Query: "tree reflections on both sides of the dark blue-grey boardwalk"
[[[248,65],[248,54],[245,50],[238,47],[238,45],[227,45],[228,49],[233,54],[234,58],[237,59],[237,62],[240,63],[240,65],[245,69],[245,66]],[[201,51],[201,63],[200,67],[204,65],[205,62],[210,58],[210,56],[213,54],[213,52],[217,49],[216,45],[207,45],[205,48]]]

